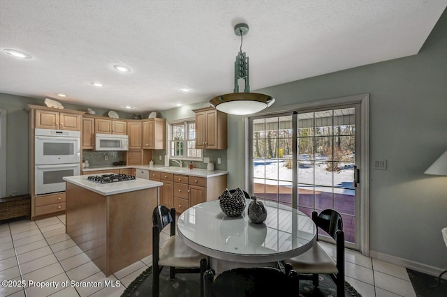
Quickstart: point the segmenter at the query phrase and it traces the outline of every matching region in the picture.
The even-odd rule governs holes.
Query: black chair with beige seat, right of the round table
[[[318,274],[328,274],[337,285],[337,296],[344,296],[344,232],[342,215],[333,209],[325,209],[317,215],[312,212],[312,220],[316,227],[329,234],[337,245],[337,261],[330,257],[318,239],[315,245],[298,257],[286,260],[300,275],[300,280],[312,280],[318,287]],[[318,238],[318,234],[317,234]]]

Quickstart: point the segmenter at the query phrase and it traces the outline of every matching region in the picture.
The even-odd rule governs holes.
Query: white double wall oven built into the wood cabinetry
[[[65,191],[64,176],[80,175],[80,131],[35,129],[34,192]]]

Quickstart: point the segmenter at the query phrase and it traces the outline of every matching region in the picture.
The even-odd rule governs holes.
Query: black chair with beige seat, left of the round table
[[[152,213],[152,296],[159,296],[160,272],[170,267],[170,279],[175,273],[200,273],[200,296],[203,297],[203,273],[207,269],[207,256],[189,248],[175,235],[175,208],[160,205]],[[160,251],[160,233],[170,224],[170,238]]]

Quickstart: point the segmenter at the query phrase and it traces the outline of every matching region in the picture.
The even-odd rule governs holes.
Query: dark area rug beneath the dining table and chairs
[[[314,288],[312,281],[300,280],[300,296],[333,297],[337,296],[335,283],[329,275],[320,275],[318,288]],[[160,274],[160,296],[189,297],[200,296],[200,274],[178,273],[175,280],[170,280],[169,269],[163,268]],[[138,276],[122,294],[124,297],[152,296],[152,267],[147,268]],[[345,297],[360,296],[356,289],[345,283]]]

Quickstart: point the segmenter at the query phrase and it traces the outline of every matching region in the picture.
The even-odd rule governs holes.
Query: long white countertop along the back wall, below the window
[[[185,174],[189,176],[198,176],[198,177],[213,177],[213,176],[221,176],[228,174],[227,171],[223,170],[214,170],[212,172],[207,171],[207,169],[189,169],[186,167],[177,167],[177,166],[169,166],[164,167],[163,165],[154,165],[154,167],[149,167],[149,165],[133,165],[133,166],[106,166],[106,167],[89,167],[83,168],[83,172],[91,172],[95,170],[110,170],[110,169],[126,169],[126,168],[136,168],[136,169],[147,169],[153,170],[155,172],[168,172],[172,174]]]

